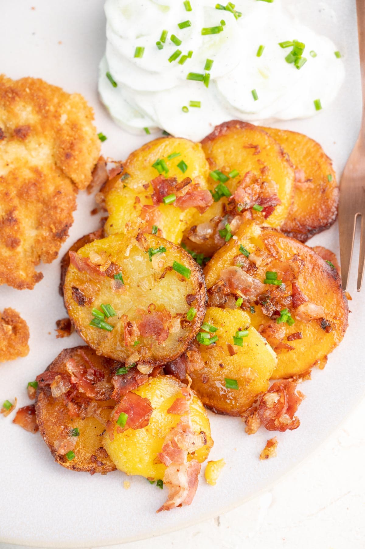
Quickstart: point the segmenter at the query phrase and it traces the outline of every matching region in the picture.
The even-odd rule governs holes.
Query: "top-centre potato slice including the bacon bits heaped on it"
[[[219,231],[227,223],[234,234],[252,217],[262,225],[280,227],[294,187],[294,169],[280,145],[261,128],[238,120],[217,126],[201,144],[211,172],[222,175],[212,178],[210,172],[209,188],[217,201],[203,215],[195,214],[184,233],[187,248],[210,257],[224,244]],[[222,183],[228,197],[219,198],[217,186]],[[255,205],[262,211],[252,209]]]

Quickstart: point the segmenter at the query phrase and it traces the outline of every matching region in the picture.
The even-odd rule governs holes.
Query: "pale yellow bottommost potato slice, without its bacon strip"
[[[116,433],[114,430],[113,441],[110,440],[108,433],[104,434],[103,444],[117,469],[127,475],[142,475],[148,479],[164,478],[166,466],[163,463],[156,463],[155,460],[162,450],[165,436],[180,421],[181,416],[167,413],[167,410],[178,397],[183,396],[181,388],[184,386],[172,376],[158,376],[150,377],[148,383],[132,391],[147,398],[154,410],[147,427],[130,428],[123,433]],[[194,459],[203,463],[213,446],[213,440],[206,411],[196,395],[190,403],[190,417],[194,431],[196,433],[204,431],[206,434],[206,444],[194,454]]]

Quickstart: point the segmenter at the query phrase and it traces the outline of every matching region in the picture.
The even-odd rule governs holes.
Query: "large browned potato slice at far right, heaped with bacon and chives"
[[[306,372],[333,351],[347,328],[336,269],[294,238],[254,222],[236,236],[205,267],[209,303],[224,307],[243,299],[252,326],[278,355],[273,378]],[[264,283],[267,276],[278,282]]]

